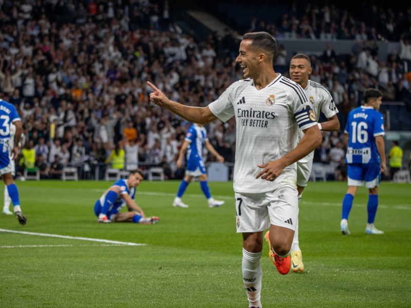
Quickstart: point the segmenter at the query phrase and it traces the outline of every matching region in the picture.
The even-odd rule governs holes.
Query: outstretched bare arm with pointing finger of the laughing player
[[[170,110],[171,112],[179,115],[181,118],[198,124],[207,124],[214,120],[217,120],[217,117],[210,111],[210,108],[207,107],[191,107],[185,106],[177,102],[170,101],[163,92],[156,88],[151,82],[147,81],[153,89],[153,93],[150,93],[150,100],[153,104]]]

